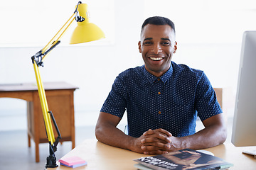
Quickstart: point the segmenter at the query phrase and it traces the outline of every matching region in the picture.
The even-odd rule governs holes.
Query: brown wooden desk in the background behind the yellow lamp
[[[75,147],[75,120],[73,92],[78,87],[65,82],[43,84],[46,90],[48,108],[53,112],[60,130],[60,142],[72,141]],[[28,147],[31,138],[36,146],[36,162],[39,162],[39,143],[48,142],[43,123],[43,112],[36,84],[0,84],[0,98],[19,98],[27,101]],[[58,137],[53,125],[55,137]]]

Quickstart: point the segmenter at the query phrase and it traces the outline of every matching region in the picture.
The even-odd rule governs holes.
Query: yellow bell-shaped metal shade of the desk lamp
[[[105,38],[103,31],[94,23],[89,21],[89,13],[87,11],[87,4],[78,5],[79,15],[85,18],[85,21],[78,22],[70,40],[70,44],[78,44],[82,42],[90,42]]]

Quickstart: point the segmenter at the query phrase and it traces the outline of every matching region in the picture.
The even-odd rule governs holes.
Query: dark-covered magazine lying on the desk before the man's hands
[[[159,154],[152,157],[134,159],[137,169],[165,170],[165,169],[228,169],[233,164],[223,159],[204,154],[193,149],[182,149],[168,154]]]

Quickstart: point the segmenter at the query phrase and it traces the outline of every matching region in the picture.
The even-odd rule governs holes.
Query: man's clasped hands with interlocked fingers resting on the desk
[[[177,150],[173,137],[170,132],[164,129],[148,130],[138,138],[140,149],[144,154],[166,154]]]

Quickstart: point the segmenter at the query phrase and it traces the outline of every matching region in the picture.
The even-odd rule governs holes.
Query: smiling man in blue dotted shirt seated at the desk
[[[174,23],[159,16],[146,19],[138,45],[144,65],[115,79],[97,120],[97,140],[144,154],[225,142],[223,113],[206,75],[171,61],[177,50]],[[125,109],[129,135],[116,128]],[[205,126],[199,132],[197,115]]]

